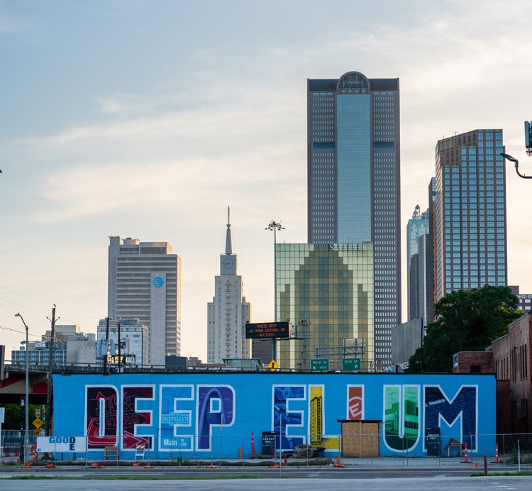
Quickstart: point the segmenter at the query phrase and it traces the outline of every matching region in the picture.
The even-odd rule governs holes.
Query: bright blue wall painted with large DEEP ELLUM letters
[[[133,458],[146,443],[153,458],[250,456],[263,431],[277,450],[299,443],[336,456],[338,420],[378,420],[381,456],[426,456],[428,428],[442,448],[455,438],[491,455],[494,375],[344,373],[177,373],[53,375],[54,434],[87,436],[89,455],[118,446]],[[481,410],[482,408],[482,410]]]

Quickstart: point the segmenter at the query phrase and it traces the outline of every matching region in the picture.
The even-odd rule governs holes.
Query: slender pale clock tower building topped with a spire
[[[207,304],[207,362],[226,358],[250,358],[250,340],[245,323],[251,305],[245,301],[242,277],[236,274],[236,254],[231,249],[231,222],[227,209],[226,253],[220,255],[220,275],[214,280],[215,294]]]

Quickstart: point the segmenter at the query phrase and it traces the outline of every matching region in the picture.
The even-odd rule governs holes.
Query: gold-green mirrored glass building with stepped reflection
[[[341,368],[343,346],[363,346],[362,370],[375,363],[373,245],[277,244],[277,319],[294,335],[277,341],[283,370],[308,370],[316,349]],[[326,354],[329,348],[331,356]],[[349,356],[348,356],[349,357]]]

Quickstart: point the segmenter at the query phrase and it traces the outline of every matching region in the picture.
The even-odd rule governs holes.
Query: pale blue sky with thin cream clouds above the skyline
[[[532,175],[528,0],[0,0],[0,344],[96,332],[109,236],[182,258],[182,355],[206,359],[231,206],[253,321],[273,319],[273,234],[306,242],[306,80],[400,80],[401,242],[438,139],[502,128]],[[528,159],[528,160],[527,160]],[[509,284],[532,293],[532,182],[506,169]],[[14,331],[13,331],[14,330]],[[17,332],[20,331],[20,332]]]

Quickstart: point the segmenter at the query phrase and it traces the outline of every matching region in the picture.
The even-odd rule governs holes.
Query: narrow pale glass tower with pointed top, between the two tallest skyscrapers
[[[428,210],[420,213],[419,204],[416,204],[414,214],[406,226],[406,280],[408,286],[408,314],[409,321],[423,317],[421,311],[423,304],[420,304],[421,289],[425,287],[425,282],[421,282],[421,271],[426,268],[423,264],[425,258],[419,250],[419,239],[428,233]],[[423,248],[424,253],[424,248]]]

